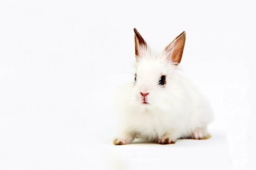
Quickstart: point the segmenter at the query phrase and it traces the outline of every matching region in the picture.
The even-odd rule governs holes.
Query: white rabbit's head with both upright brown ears
[[[134,32],[137,62],[132,98],[138,105],[146,107],[168,104],[170,91],[177,87],[186,33],[180,34],[162,52],[155,54],[136,28]]]

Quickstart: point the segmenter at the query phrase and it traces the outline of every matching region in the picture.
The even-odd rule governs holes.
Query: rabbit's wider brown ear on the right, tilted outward
[[[183,31],[178,37],[176,37],[166,48],[167,59],[174,62],[175,65],[180,63],[183,49],[186,41],[186,32]]]

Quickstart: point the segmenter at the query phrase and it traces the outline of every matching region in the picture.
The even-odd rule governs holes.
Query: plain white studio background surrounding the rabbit
[[[255,168],[255,5],[249,1],[0,1],[0,169]],[[133,79],[136,27],[215,112],[209,140],[114,146],[115,89]],[[254,129],[253,129],[254,128]]]

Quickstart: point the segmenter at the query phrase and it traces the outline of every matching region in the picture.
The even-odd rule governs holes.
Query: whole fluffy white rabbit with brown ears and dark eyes
[[[136,137],[159,144],[172,144],[180,138],[208,139],[209,104],[180,75],[186,33],[155,54],[136,28],[134,32],[135,78],[118,95],[123,127],[113,144],[129,144]]]

